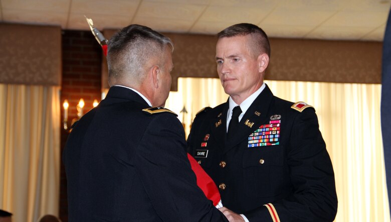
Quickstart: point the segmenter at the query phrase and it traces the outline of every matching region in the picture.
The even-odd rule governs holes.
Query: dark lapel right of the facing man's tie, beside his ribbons
[[[266,85],[265,89],[254,100],[249,109],[247,109],[242,120],[239,122],[235,136],[227,138],[224,152],[228,152],[243,140],[248,140],[251,133],[269,120],[267,115],[272,98],[273,93]]]

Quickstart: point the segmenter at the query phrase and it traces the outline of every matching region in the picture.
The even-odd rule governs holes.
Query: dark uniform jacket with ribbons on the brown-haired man
[[[192,124],[188,152],[220,187],[223,205],[250,222],[335,218],[334,172],[315,110],[293,104],[266,85],[232,138],[226,136],[228,101]]]

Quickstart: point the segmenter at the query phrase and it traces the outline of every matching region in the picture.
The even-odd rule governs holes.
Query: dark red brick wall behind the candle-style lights
[[[101,98],[101,62],[102,49],[89,31],[63,31],[62,62],[63,80],[61,85],[61,104],[65,99],[69,102],[68,126],[77,117],[76,105],[80,98],[84,99],[84,113],[90,110],[94,99]],[[61,107],[61,115],[64,115]],[[61,116],[63,119],[63,116]],[[68,132],[61,131],[61,154]],[[60,218],[68,221],[67,180],[64,164],[61,161],[60,176]]]

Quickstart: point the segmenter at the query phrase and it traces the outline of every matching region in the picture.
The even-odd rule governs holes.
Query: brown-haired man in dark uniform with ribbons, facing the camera
[[[269,57],[255,25],[218,34],[217,70],[230,97],[196,116],[188,151],[220,188],[230,221],[332,221],[334,172],[315,109],[273,96],[263,82]]]

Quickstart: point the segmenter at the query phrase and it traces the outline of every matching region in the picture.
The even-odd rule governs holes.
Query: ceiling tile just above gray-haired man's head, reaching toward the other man
[[[185,33],[193,24],[191,20],[136,17],[133,24],[148,26],[159,32]]]

